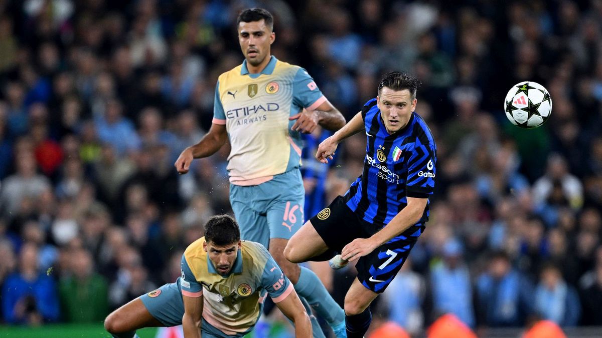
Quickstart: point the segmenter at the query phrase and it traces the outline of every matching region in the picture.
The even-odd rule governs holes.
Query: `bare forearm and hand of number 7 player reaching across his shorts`
[[[357,238],[347,244],[341,251],[341,258],[356,260],[404,232],[420,220],[428,200],[428,198],[408,197],[408,205],[395,215],[393,220],[370,238]]]

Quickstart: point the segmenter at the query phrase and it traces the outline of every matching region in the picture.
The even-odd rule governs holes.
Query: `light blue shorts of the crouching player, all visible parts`
[[[144,304],[144,307],[146,307],[146,310],[151,313],[151,316],[166,327],[182,325],[184,301],[182,301],[182,289],[177,281],[176,283],[165,284],[157,290],[141,295],[140,300]],[[211,324],[206,322],[203,318],[203,324],[200,330],[203,338],[234,338],[243,337],[245,334],[249,333],[252,328],[246,333],[229,336],[218,330],[216,327],[211,326]]]

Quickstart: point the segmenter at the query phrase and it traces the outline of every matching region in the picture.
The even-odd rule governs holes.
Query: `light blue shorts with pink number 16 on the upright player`
[[[246,241],[268,247],[270,238],[290,239],[305,223],[305,189],[299,169],[260,185],[230,185],[230,203]]]

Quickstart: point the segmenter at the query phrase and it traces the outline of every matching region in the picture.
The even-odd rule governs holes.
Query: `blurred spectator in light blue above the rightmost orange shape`
[[[577,291],[566,284],[555,265],[546,265],[541,270],[541,281],[535,287],[535,311],[561,327],[576,326],[579,322]]]

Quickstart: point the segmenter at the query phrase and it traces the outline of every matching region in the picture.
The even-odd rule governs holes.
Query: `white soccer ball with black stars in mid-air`
[[[504,100],[506,117],[520,128],[537,128],[552,112],[550,93],[541,84],[524,81],[514,85]]]

